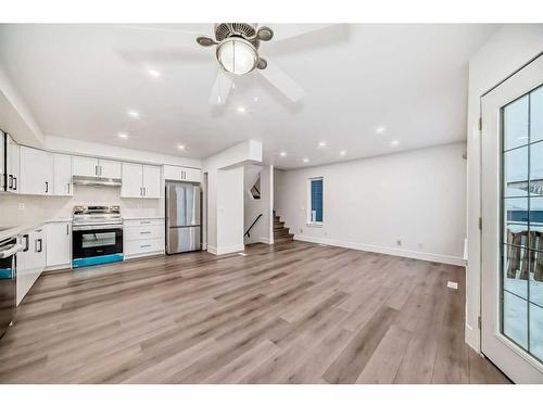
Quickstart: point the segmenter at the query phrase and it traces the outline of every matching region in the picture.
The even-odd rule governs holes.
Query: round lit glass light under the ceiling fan
[[[258,53],[247,39],[233,36],[217,46],[217,61],[226,72],[243,75],[256,67]]]

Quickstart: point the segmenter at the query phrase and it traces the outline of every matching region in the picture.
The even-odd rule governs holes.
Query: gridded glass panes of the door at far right
[[[543,87],[502,107],[501,332],[543,360]]]

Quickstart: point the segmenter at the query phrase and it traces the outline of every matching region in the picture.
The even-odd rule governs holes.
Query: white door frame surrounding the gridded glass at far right
[[[517,383],[543,382],[543,364],[500,332],[501,109],[541,86],[543,82],[541,73],[543,73],[542,55],[481,97],[481,352]]]

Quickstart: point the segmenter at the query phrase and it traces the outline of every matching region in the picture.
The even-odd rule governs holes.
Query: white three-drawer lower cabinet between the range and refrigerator
[[[124,221],[123,254],[136,258],[164,253],[164,219],[128,219]]]

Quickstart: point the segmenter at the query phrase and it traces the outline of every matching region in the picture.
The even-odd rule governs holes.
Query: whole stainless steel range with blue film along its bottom
[[[123,260],[119,206],[75,206],[72,231],[72,267]]]

